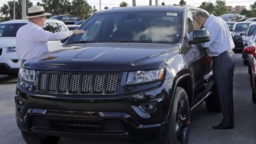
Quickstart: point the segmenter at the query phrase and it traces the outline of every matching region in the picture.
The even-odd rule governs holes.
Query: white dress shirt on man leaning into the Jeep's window
[[[204,23],[204,29],[210,34],[210,41],[203,43],[204,47],[208,47],[209,56],[219,56],[235,47],[228,25],[222,18],[211,14]]]

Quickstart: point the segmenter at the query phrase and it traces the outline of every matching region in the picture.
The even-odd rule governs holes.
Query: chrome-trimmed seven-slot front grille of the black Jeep
[[[114,94],[117,73],[39,72],[38,90],[57,94]]]

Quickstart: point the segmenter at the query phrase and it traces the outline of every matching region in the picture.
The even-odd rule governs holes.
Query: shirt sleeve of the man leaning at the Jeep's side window
[[[202,43],[204,47],[210,47],[210,45],[216,40],[217,33],[219,33],[220,25],[217,23],[212,23],[210,27],[207,27],[206,30],[209,31],[210,41],[207,43]]]

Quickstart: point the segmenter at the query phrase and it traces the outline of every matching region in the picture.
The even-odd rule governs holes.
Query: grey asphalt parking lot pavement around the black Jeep
[[[222,118],[220,113],[209,113],[205,104],[191,113],[190,139],[188,143],[255,143],[256,104],[251,100],[248,68],[242,64],[241,53],[236,53],[234,75],[235,129],[214,130]],[[15,122],[14,95],[17,77],[0,75],[0,143],[24,144]],[[127,140],[95,140],[62,138],[58,144],[130,144]]]

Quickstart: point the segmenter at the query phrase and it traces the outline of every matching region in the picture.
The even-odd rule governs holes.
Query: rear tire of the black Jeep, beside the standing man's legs
[[[220,112],[220,102],[219,97],[217,95],[216,90],[212,92],[207,98],[206,98],[206,107],[208,111],[215,111]]]

